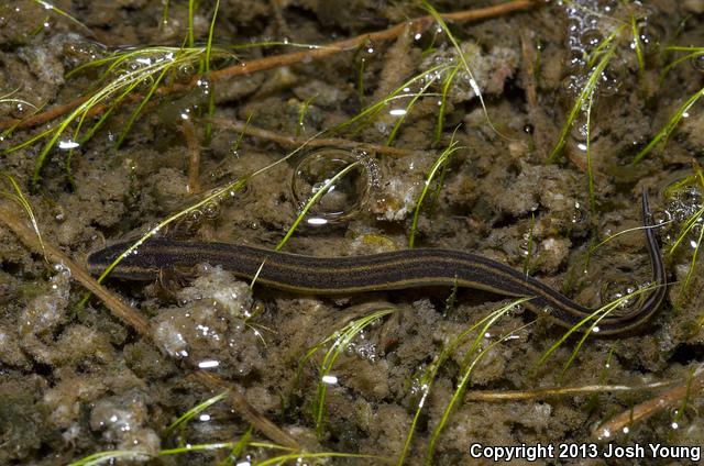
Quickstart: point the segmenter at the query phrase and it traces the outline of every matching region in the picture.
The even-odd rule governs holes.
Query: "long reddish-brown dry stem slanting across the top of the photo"
[[[536,0],[515,0],[506,3],[497,4],[495,7],[487,8],[479,8],[475,10],[464,10],[458,11],[454,13],[446,13],[441,14],[442,19],[448,22],[471,22],[471,21],[481,21],[490,18],[501,16],[503,14],[508,14],[517,11],[529,10],[536,5],[538,5],[538,1]],[[311,60],[322,59],[324,57],[339,54],[345,51],[355,49],[362,45],[364,45],[367,41],[388,41],[397,37],[402,34],[406,27],[409,27],[414,31],[425,30],[430,24],[432,24],[435,20],[431,15],[416,18],[415,20],[409,20],[404,23],[397,24],[391,29],[384,31],[377,31],[369,34],[358,35],[355,37],[346,38],[344,41],[333,42],[328,45],[321,45],[316,48],[307,48],[305,51],[293,52],[289,54],[274,55],[271,57],[254,59],[248,63],[241,63],[228,68],[220,69],[218,71],[211,71],[208,74],[207,79],[217,82],[223,79],[230,79],[235,76],[250,75],[252,73],[263,71],[265,69],[278,68],[282,66],[295,65],[297,63],[307,63]],[[166,95],[170,95],[174,92],[186,92],[193,88],[195,88],[199,80],[204,79],[204,75],[196,75],[190,80],[190,82],[186,85],[172,85],[169,87],[163,87],[157,89],[155,96],[163,97]],[[125,99],[125,100],[136,100],[139,96],[135,96],[134,99]],[[7,130],[9,127],[32,127],[42,123],[46,123],[48,121],[54,120],[61,115],[64,115],[80,106],[82,102],[87,100],[86,97],[78,98],[69,103],[64,106],[55,107],[46,112],[38,113],[34,116],[28,118],[26,120],[4,120],[0,121],[0,131]],[[105,111],[103,106],[96,106],[90,112],[89,116],[96,115]]]

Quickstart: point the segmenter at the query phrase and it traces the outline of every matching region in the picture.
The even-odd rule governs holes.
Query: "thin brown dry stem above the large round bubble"
[[[223,118],[209,118],[206,121],[212,123],[218,127],[224,127],[238,133],[244,133],[248,136],[254,136],[266,141],[273,141],[276,144],[284,147],[300,147],[304,143],[307,147],[321,147],[321,146],[336,146],[336,147],[349,147],[372,151],[376,154],[384,154],[396,157],[408,157],[422,153],[422,151],[413,151],[400,147],[391,147],[377,144],[360,143],[356,141],[350,141],[342,137],[317,137],[315,140],[305,137],[284,136],[274,131],[264,130],[253,126],[252,123],[244,123],[234,120],[227,120]]]

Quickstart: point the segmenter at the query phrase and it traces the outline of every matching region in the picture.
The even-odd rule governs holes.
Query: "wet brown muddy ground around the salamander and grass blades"
[[[497,3],[433,5],[451,12]],[[178,47],[187,34],[184,1],[170,2],[167,12],[161,2],[140,0],[54,4],[82,25],[29,0],[0,5],[0,122],[42,113],[106,85],[101,69],[66,76],[81,64],[124,47]],[[212,9],[212,2],[197,5],[197,44],[207,41]],[[220,2],[213,43],[226,49],[260,42],[323,45],[424,14],[410,1],[229,0]],[[549,160],[588,81],[594,65],[588,54],[618,27],[609,48],[613,57],[593,93],[588,133],[585,104],[564,147]],[[436,367],[443,348],[509,301],[448,287],[298,296],[251,289],[220,264],[166,270],[161,281],[108,279],[111,291],[148,319],[150,337],[97,298],[81,306],[85,289],[74,270],[47,264],[0,225],[0,464],[68,464],[113,450],[145,452],[151,456],[132,461],[148,464],[255,464],[274,456],[276,452],[255,445],[230,456],[232,447],[158,454],[185,444],[237,443],[248,432],[249,422],[227,400],[185,428],[167,431],[178,417],[222,391],[201,385],[194,365],[226,380],[308,452],[377,456],[338,457],[328,464],[396,462],[421,402],[406,464],[422,464],[430,443],[438,465],[476,461],[470,457],[476,444],[575,445],[582,448],[578,454],[588,457],[579,464],[630,464],[604,457],[610,440],[620,446],[642,445],[646,455],[653,443],[704,445],[702,382],[695,373],[704,356],[702,266],[689,273],[701,241],[701,217],[698,230],[669,254],[682,225],[702,208],[704,188],[688,178],[702,163],[702,103],[688,110],[667,145],[632,163],[702,89],[701,56],[663,71],[684,55],[669,46],[704,45],[704,3],[540,2],[479,22],[453,22],[450,29],[473,77],[460,68],[442,106],[443,79],[460,62],[459,54],[439,25],[408,27],[395,38],[362,42],[322,59],[301,58],[217,81],[204,78],[186,91],[177,87],[190,82],[198,65],[180,66],[165,76],[165,91],[146,106],[120,147],[116,142],[135,100],[70,152],[80,137],[72,136],[76,124],[69,125],[36,184],[31,177],[46,140],[4,153],[0,168],[26,195],[44,242],[85,266],[90,252],[139,237],[213,189],[249,177],[308,141],[249,178],[243,190],[207,202],[158,234],[273,248],[311,193],[359,162],[284,246],[312,256],[358,256],[408,247],[428,173],[454,142],[455,151],[430,184],[420,210],[416,247],[482,254],[596,308],[651,280],[641,231],[593,247],[641,224],[645,189],[656,221],[662,223],[658,237],[671,281],[652,319],[623,335],[590,336],[563,370],[581,335],[569,337],[538,365],[565,329],[544,313],[515,309],[476,340],[484,352],[476,364],[471,363],[477,353],[465,358],[476,337],[472,333]],[[238,48],[237,57],[216,54],[213,68],[307,49],[283,44]],[[163,57],[145,52],[142,59]],[[107,79],[139,69],[143,60],[125,63]],[[147,89],[142,84],[135,92]],[[421,89],[426,93],[416,99]],[[321,134],[384,99],[387,103],[364,124]],[[206,122],[210,102],[213,114]],[[441,107],[444,119],[437,132]],[[79,134],[98,118],[87,119]],[[0,144],[7,151],[58,121],[6,132]],[[9,182],[2,189],[13,192]],[[10,197],[2,202],[6,212],[24,218]],[[332,365],[328,376],[336,379],[326,378],[324,415],[317,428],[311,407],[331,343],[298,373],[299,362],[351,320],[380,309],[393,313],[346,342]],[[468,366],[473,367],[468,392],[432,440]],[[433,368],[437,375],[428,389],[424,374]],[[688,380],[684,395],[668,391]],[[601,388],[584,389],[594,386]],[[581,391],[556,393],[560,387]],[[479,399],[534,390],[548,392]],[[596,439],[600,425],[659,396],[667,401],[660,408],[620,424],[609,439]],[[272,441],[258,430],[252,440]],[[596,457],[590,457],[590,448],[597,450]]]

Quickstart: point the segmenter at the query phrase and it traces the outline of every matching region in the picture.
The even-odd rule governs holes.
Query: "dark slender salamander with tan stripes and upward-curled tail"
[[[648,320],[666,293],[666,273],[650,225],[648,197],[642,195],[642,217],[654,287],[638,309],[606,315],[600,334],[632,330]],[[107,268],[130,243],[114,244],[88,257],[95,273]],[[168,266],[221,265],[234,275],[272,288],[310,295],[349,295],[426,286],[468,287],[510,297],[528,297],[526,307],[546,312],[559,324],[572,328],[596,310],[581,306],[541,281],[505,264],[453,249],[417,248],[354,257],[314,257],[226,243],[147,240],[127,256],[111,277],[151,280]],[[588,325],[586,325],[588,328]]]

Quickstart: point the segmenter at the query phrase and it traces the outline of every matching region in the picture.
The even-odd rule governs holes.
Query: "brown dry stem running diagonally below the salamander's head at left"
[[[37,254],[42,254],[42,245],[40,244],[34,231],[24,225],[11,210],[4,206],[0,206],[0,223],[10,229],[25,246]],[[97,296],[113,315],[132,326],[140,335],[145,339],[152,339],[152,331],[147,320],[142,317],[134,308],[122,302],[114,293],[98,284],[88,271],[68,258],[56,247],[44,242],[44,251],[51,262],[63,264],[68,267],[72,276],[78,280],[87,290]],[[211,389],[227,388],[230,395],[230,401],[242,418],[254,425],[260,432],[266,435],[273,442],[292,448],[299,450],[300,445],[289,434],[280,430],[276,424],[260,413],[250,402],[229,382],[220,379],[218,376],[208,374],[204,370],[195,370],[196,377],[207,387]]]

